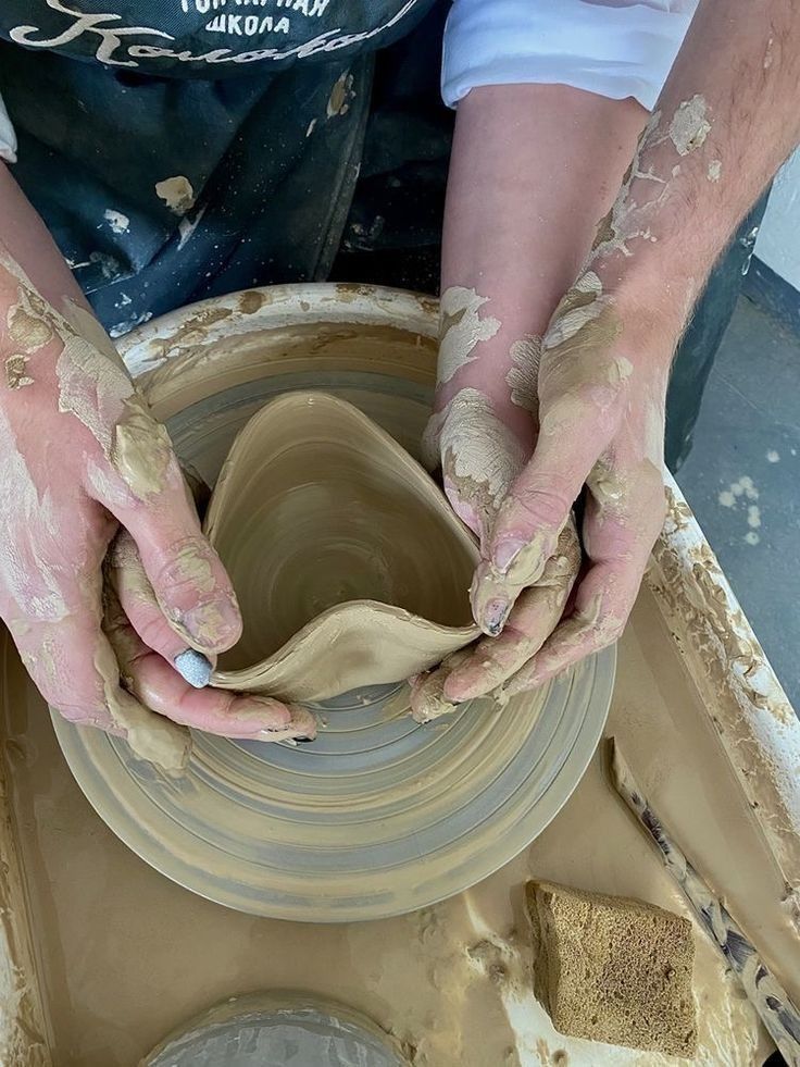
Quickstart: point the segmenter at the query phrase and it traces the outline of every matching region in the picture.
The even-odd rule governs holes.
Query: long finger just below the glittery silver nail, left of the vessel
[[[225,737],[259,741],[312,739],[316,722],[303,708],[261,696],[193,688],[137,635],[120,603],[109,597],[103,625],[126,687],[147,707],[182,725]]]

